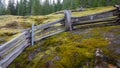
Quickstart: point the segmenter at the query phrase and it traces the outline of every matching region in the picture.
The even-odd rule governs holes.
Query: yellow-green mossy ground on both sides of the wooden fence
[[[73,12],[84,16],[111,10],[114,7],[88,8]],[[0,16],[0,44],[9,41],[21,30],[62,18],[63,14],[46,16]],[[63,32],[29,46],[8,68],[117,68],[120,65],[120,25],[89,27]],[[104,58],[95,57],[96,48]],[[104,60],[103,60],[104,59]]]

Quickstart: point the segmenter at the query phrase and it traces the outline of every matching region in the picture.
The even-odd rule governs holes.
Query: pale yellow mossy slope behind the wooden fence
[[[111,10],[114,7],[99,7],[99,8],[87,8],[84,12],[73,12],[73,16],[84,16],[97,12]],[[20,33],[20,30],[31,27],[32,23],[39,25],[42,23],[52,22],[54,20],[63,18],[64,14],[52,13],[45,16],[12,16],[5,15],[0,16],[0,45],[9,41],[16,34]]]

